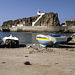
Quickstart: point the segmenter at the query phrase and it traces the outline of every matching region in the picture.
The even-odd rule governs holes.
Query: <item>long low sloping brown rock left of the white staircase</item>
[[[12,27],[12,26],[17,26],[18,24],[22,24],[24,26],[31,26],[32,21],[35,21],[37,19],[37,17],[38,16],[17,19],[14,21],[13,20],[5,21],[5,22],[3,22],[2,27]]]

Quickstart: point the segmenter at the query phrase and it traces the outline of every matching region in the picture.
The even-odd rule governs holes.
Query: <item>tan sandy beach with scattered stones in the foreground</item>
[[[59,48],[0,48],[0,75],[75,75],[75,44],[70,44]]]

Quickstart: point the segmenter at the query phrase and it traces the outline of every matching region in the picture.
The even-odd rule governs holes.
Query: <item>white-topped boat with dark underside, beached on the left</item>
[[[9,48],[18,47],[19,45],[19,39],[17,37],[13,37],[12,35],[4,37],[3,42],[6,47]]]

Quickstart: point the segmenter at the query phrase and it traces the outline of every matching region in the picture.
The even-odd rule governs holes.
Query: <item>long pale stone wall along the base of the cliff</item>
[[[75,26],[16,26],[5,28],[0,31],[8,31],[8,32],[64,32],[64,33],[74,33]]]

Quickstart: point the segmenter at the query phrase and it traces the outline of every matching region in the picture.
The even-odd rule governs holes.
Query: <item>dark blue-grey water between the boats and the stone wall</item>
[[[9,36],[12,34],[12,36],[15,36],[19,39],[20,44],[34,44],[38,43],[36,40],[36,35],[38,34],[45,34],[45,35],[50,35],[49,32],[39,32],[39,33],[32,33],[32,32],[0,32],[0,35],[3,37]],[[57,34],[62,34],[66,36],[71,36],[73,33],[57,33]]]

